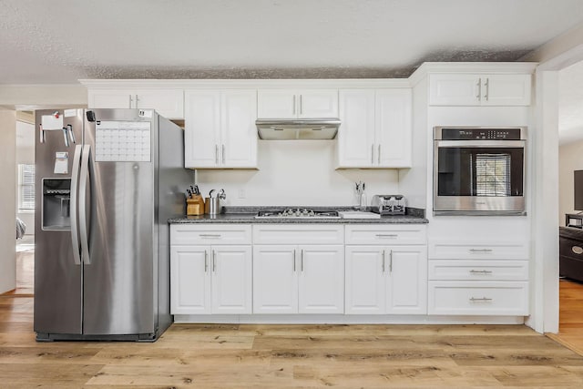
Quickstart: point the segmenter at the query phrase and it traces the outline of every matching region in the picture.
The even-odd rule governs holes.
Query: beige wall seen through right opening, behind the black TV
[[[558,148],[558,225],[573,211],[573,170],[583,170],[583,140]]]

